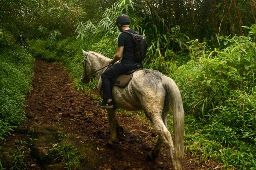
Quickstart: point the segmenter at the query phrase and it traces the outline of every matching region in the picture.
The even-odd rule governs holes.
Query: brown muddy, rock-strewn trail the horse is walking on
[[[117,113],[116,117],[120,125],[124,127],[124,136],[119,137],[113,148],[107,147],[109,138],[109,123],[107,112],[96,105],[97,100],[87,96],[84,91],[76,91],[72,87],[72,79],[59,65],[47,63],[41,60],[35,62],[35,74],[33,77],[32,91],[26,98],[26,115],[28,119],[6,141],[6,146],[12,146],[18,140],[23,140],[27,132],[38,128],[48,129],[47,132],[38,133],[38,144],[34,148],[50,147],[53,141],[47,136],[40,137],[52,131],[61,131],[70,134],[74,146],[90,148],[87,150],[86,163],[79,169],[99,170],[169,170],[172,164],[167,151],[163,148],[156,161],[145,161],[145,154],[154,146],[157,137],[154,131],[149,129],[145,122],[141,122],[133,116],[125,113]],[[46,127],[46,128],[41,128]],[[40,131],[39,130],[39,131]],[[40,132],[41,132],[40,131]],[[25,133],[24,133],[25,132]],[[72,139],[70,139],[72,143]],[[79,144],[76,144],[79,143]],[[32,149],[33,150],[33,149]],[[38,162],[38,154],[30,154],[26,163],[28,169],[49,169],[47,161]],[[207,169],[206,165],[193,163],[185,156],[182,161],[185,170]],[[61,167],[63,169],[63,167]],[[61,169],[59,168],[59,169]],[[58,169],[58,167],[55,167]]]

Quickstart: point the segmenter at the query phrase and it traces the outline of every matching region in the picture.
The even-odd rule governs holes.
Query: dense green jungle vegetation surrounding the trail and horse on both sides
[[[96,88],[79,80],[81,50],[112,58],[119,14],[146,36],[144,67],[180,88],[186,153],[256,169],[255,0],[1,0],[0,140],[25,119],[33,57],[61,62],[80,90]],[[17,43],[20,31],[29,51]]]

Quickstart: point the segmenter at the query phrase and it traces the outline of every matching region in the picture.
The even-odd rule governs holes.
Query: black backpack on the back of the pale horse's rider
[[[123,32],[130,34],[134,40],[134,54],[132,57],[134,57],[136,61],[143,61],[146,58],[148,49],[148,43],[145,38],[140,34],[134,34],[129,31]]]

